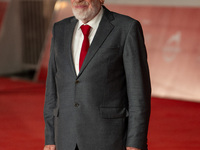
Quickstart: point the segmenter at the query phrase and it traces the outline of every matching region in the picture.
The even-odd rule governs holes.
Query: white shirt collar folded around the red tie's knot
[[[101,10],[99,11],[99,13],[92,19],[90,20],[88,23],[86,23],[87,25],[89,25],[92,29],[96,29],[101,21],[101,18],[103,17],[103,7],[101,7]],[[80,29],[80,27],[83,25],[84,23],[79,20],[78,22],[78,29]]]

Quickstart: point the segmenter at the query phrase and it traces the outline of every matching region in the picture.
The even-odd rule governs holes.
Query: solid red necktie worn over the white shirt
[[[82,66],[85,56],[87,54],[88,48],[90,46],[89,38],[88,38],[88,36],[90,34],[90,26],[82,25],[81,30],[83,32],[84,39],[83,39],[83,44],[82,44],[81,54],[80,54],[80,59],[79,59],[79,70],[81,69],[81,66]]]

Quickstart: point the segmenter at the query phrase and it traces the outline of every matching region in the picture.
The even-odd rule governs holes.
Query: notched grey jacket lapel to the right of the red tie
[[[88,63],[92,60],[94,55],[97,53],[103,42],[106,40],[108,35],[113,30],[114,26],[110,23],[110,21],[113,19],[113,16],[109,10],[107,10],[104,7],[104,15],[102,17],[102,20],[99,24],[98,30],[96,32],[96,35],[92,41],[92,44],[90,45],[87,55],[85,57],[85,60],[82,64],[81,70],[77,76],[77,78],[82,74]]]

